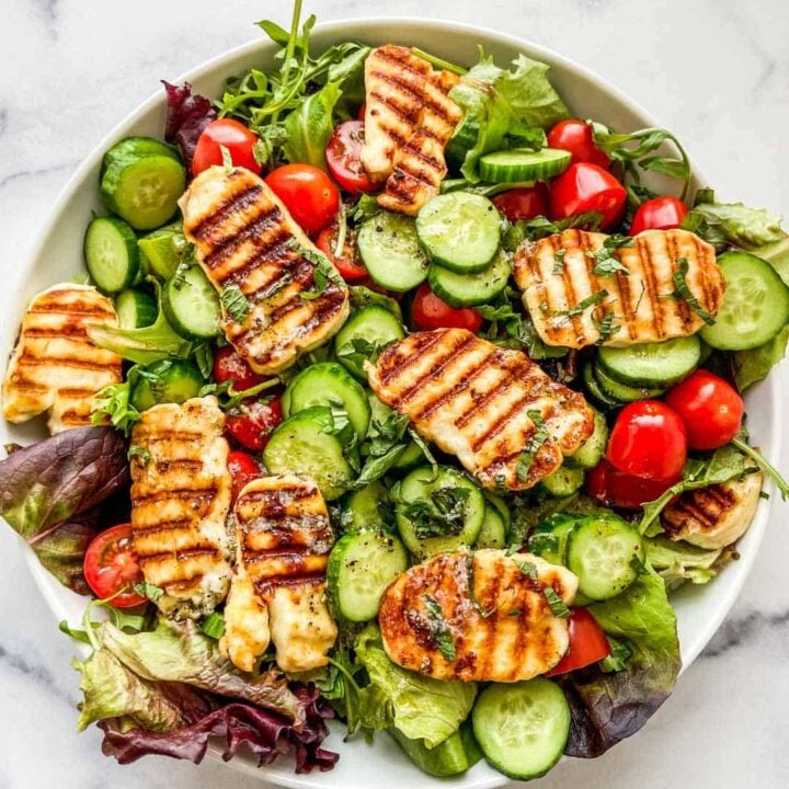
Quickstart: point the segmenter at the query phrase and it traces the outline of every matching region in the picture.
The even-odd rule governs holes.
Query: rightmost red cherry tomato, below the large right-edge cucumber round
[[[745,413],[745,403],[734,387],[707,370],[696,370],[677,384],[666,403],[685,423],[693,449],[717,449],[728,444],[740,432]]]

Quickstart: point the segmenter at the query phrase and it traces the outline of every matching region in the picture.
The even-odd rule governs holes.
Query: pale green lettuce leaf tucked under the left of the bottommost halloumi
[[[423,740],[427,748],[458,730],[477,697],[474,683],[439,682],[395,665],[384,651],[375,625],[356,639],[356,660],[370,679],[370,685],[362,689],[363,704],[371,700],[378,706],[391,705],[391,724],[411,740]]]

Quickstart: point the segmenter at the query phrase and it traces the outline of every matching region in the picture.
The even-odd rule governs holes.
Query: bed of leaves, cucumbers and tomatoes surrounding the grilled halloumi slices
[[[435,776],[487,758],[528,779],[562,754],[597,756],[674,687],[681,653],[668,594],[736,558],[763,474],[789,493],[748,445],[741,398],[786,352],[789,237],[767,211],[695,190],[668,132],[619,134],[573,118],[548,67],[525,55],[501,65],[481,54],[466,68],[412,50],[453,76],[460,119],[439,194],[415,219],[385,210],[361,158],[373,48],[345,42],[316,54],[315,18],[300,25],[299,12],[297,2],[289,31],[260,23],[281,47],[274,68],[230,77],[213,100],[165,83],[164,139],[126,138],[106,152],[107,213],[88,225],[84,282],[113,299],[118,325],[90,327],[89,336],[124,359],[123,381],[96,397],[95,426],[11,447],[0,462],[2,516],[59,581],[96,597],[80,627],[61,624],[90,648],[75,661],[79,729],[98,723],[104,752],[122,763],[199,762],[218,735],[226,758],[245,743],[261,764],[288,752],[297,771],[329,769],[338,758],[322,747],[330,717],[347,737],[388,733]],[[302,299],[332,283],[350,289],[351,315],[333,339],[276,375],[256,373],[225,339],[222,321],[243,321],[253,305],[239,285],[217,291],[184,232],[178,201],[210,167],[263,174],[316,241],[320,252],[301,250],[316,266]],[[678,197],[655,192],[650,172]],[[620,277],[629,275],[621,252],[639,232],[691,231],[718,253],[728,283],[720,310],[705,309],[678,262],[666,297],[700,319],[700,332],[611,346],[618,327],[595,313],[597,344],[547,344],[521,304],[512,260],[572,228],[608,233],[594,274]],[[557,266],[562,259],[560,249]],[[567,317],[595,312],[606,296]],[[366,365],[387,347],[447,328],[524,352],[594,405],[591,436],[536,487],[483,489],[371,391]],[[222,604],[183,621],[158,614],[162,590],[136,565],[132,529],[106,528],[128,521],[129,464],[149,460],[126,439],[141,414],[208,396],[226,415],[233,496],[264,472],[293,472],[330,503],[327,584],[339,636],[323,667],[286,676],[266,652],[253,672],[237,668],[219,648]],[[529,418],[521,481],[549,438],[539,412]],[[701,499],[687,496],[710,491],[716,507],[694,514]],[[547,676],[446,682],[390,659],[377,624],[388,584],[441,552],[465,551],[473,567],[480,550],[530,554],[578,578],[571,606],[544,590],[570,644]],[[531,578],[535,564],[522,572]],[[426,610],[433,649],[454,660],[459,644],[430,595]]]

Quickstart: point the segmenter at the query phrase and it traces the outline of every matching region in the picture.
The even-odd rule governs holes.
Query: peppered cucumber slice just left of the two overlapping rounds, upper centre
[[[427,277],[427,258],[410,217],[380,211],[362,225],[356,243],[373,282],[388,290],[405,293]]]

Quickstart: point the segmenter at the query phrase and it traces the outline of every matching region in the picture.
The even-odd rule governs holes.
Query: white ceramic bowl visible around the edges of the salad
[[[502,65],[523,52],[551,66],[551,81],[578,116],[594,117],[618,130],[659,125],[636,102],[591,71],[554,53],[502,33],[433,20],[356,20],[320,25],[312,37],[313,52],[347,39],[419,46],[450,61],[468,65],[476,62],[480,44]],[[271,67],[274,52],[272,45],[263,41],[254,42],[208,61],[178,81],[187,79],[196,92],[216,96],[229,75],[239,73],[251,66]],[[3,299],[4,323],[0,334],[0,350],[3,353],[14,342],[28,299],[49,285],[69,279],[82,268],[84,228],[91,210],[102,210],[98,179],[104,151],[127,135],[161,136],[164,113],[163,91],[157,90],[155,95],[112,130],[73,174],[55,205],[47,230],[26,262],[26,276],[22,279],[21,290]],[[697,182],[702,181],[698,171],[696,179]],[[753,439],[767,458],[776,462],[781,439],[779,377],[773,376],[768,381],[755,386],[748,391],[746,400]],[[16,441],[27,444],[41,437],[41,424],[19,427],[0,424],[0,443]],[[751,529],[739,544],[742,556],[740,561],[727,567],[710,585],[688,587],[674,596],[685,667],[696,659],[731,608],[756,556],[768,515],[769,503],[762,501]],[[55,616],[78,622],[84,608],[84,598],[60,586],[38,564],[32,551],[28,562]],[[64,666],[64,672],[68,672],[68,666]],[[710,722],[712,716],[710,711]],[[240,757],[229,765],[286,787],[342,786],[345,789],[369,789],[375,786],[376,789],[407,789],[450,784],[462,789],[482,789],[507,782],[504,776],[484,763],[455,780],[432,779],[412,766],[388,736],[378,736],[373,746],[361,740],[343,743],[341,725],[334,728],[327,746],[339,751],[342,758],[334,770],[324,774],[297,776],[284,761],[263,770],[259,770],[252,759]],[[167,766],[163,765],[163,768]]]

